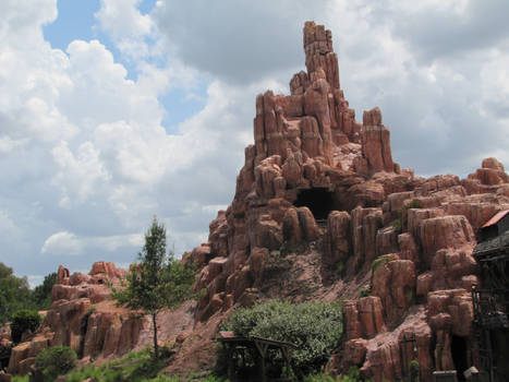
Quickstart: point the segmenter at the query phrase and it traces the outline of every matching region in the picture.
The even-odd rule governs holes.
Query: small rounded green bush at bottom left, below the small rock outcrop
[[[76,366],[76,353],[69,346],[52,346],[37,355],[35,367],[43,372],[45,381],[54,381]]]

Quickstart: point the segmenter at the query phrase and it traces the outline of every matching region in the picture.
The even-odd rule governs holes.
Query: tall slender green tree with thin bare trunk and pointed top
[[[165,308],[173,308],[194,298],[191,287],[194,268],[166,252],[166,228],[154,217],[145,234],[145,246],[138,253],[138,262],[131,266],[122,287],[112,289],[118,305],[150,314],[154,326],[154,353],[159,358],[157,345],[157,314]]]

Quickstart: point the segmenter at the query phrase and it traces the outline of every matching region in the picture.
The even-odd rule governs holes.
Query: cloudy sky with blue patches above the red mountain
[[[253,143],[256,94],[331,29],[357,120],[378,106],[421,176],[509,165],[507,0],[2,0],[0,261],[32,285],[126,266],[153,216],[207,240]]]

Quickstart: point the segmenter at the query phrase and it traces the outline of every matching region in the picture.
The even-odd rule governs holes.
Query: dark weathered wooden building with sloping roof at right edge
[[[490,382],[508,381],[509,366],[509,210],[483,225],[474,250],[481,286],[472,286],[480,371]]]

